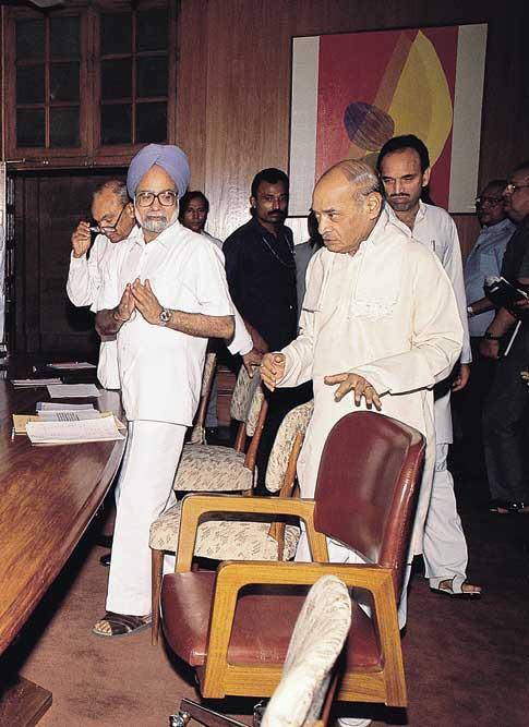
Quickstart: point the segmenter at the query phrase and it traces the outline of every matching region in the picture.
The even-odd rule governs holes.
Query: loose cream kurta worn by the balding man
[[[312,378],[314,415],[299,461],[303,497],[312,497],[326,437],[354,410],[351,395],[334,400],[324,376],[353,372],[382,398],[382,413],[426,437],[426,465],[412,535],[422,548],[435,459],[433,385],[457,361],[462,329],[450,282],[429,251],[393,225],[385,211],[356,255],[325,249],[311,260],[299,337],[282,350],[279,386]],[[364,409],[364,404],[359,407]]]

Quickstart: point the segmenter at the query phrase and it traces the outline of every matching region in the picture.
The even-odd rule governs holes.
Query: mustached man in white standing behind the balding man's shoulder
[[[421,194],[425,192],[428,195],[430,181],[428,149],[412,134],[395,136],[382,147],[377,168],[384,184],[389,218],[406,234],[435,253],[454,287],[464,343],[459,374],[452,390],[460,390],[468,381],[472,360],[461,252],[456,226],[448,213],[441,207],[424,204],[421,199]],[[481,589],[466,582],[467,542],[457,513],[454,480],[447,469],[448,445],[453,441],[448,381],[436,392],[435,441],[435,472],[424,528],[425,575],[435,593],[457,598],[479,598]]]

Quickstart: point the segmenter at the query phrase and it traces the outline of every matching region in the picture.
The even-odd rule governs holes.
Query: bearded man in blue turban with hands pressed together
[[[199,403],[207,339],[233,335],[221,260],[211,242],[178,221],[189,179],[177,146],[149,144],[132,159],[127,187],[137,228],[106,270],[97,302],[97,330],[118,338],[129,420],[107,610],[94,627],[100,637],[151,622],[149,525],[175,501],[172,481]]]

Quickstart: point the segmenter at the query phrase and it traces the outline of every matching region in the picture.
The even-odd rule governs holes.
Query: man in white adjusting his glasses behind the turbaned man
[[[127,185],[113,179],[94,192],[92,216],[98,234],[91,249],[91,225],[82,220],[72,234],[72,254],[68,274],[67,293],[73,305],[94,304],[101,286],[101,270],[107,258],[116,251],[116,243],[129,237],[135,225],[134,207]],[[87,256],[89,250],[89,257]],[[106,389],[119,389],[118,348],[116,337],[101,338],[97,378]]]

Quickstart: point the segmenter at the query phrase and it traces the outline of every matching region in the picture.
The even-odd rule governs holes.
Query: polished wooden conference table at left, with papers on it
[[[45,388],[0,381],[0,654],[77,545],[124,448],[123,441],[34,447],[26,436],[13,438],[12,413],[33,413],[37,401],[47,400]],[[83,401],[121,414],[115,391]],[[13,681],[0,657],[0,725],[36,724],[50,704],[50,692]]]

